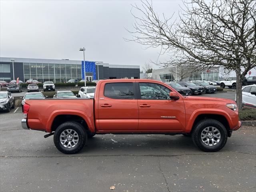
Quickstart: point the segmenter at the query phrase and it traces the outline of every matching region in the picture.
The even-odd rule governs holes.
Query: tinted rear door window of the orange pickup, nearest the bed
[[[133,83],[107,83],[104,96],[112,99],[134,99]]]

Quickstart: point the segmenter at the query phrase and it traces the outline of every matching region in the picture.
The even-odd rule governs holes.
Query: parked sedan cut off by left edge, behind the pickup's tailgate
[[[8,91],[0,91],[0,110],[10,112],[11,108],[15,108],[15,102],[12,94]]]

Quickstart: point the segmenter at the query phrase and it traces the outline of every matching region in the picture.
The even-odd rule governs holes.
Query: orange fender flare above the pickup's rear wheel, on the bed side
[[[76,115],[76,116],[80,116],[81,118],[83,118],[88,126],[88,129],[91,132],[95,132],[94,130],[94,122],[92,122],[90,120],[90,118],[88,117],[87,114],[85,114],[84,112],[80,111],[80,110],[54,110],[49,118],[48,121],[46,123],[46,132],[51,133],[52,132],[52,123],[54,121],[54,119],[56,118],[56,116],[58,115]]]

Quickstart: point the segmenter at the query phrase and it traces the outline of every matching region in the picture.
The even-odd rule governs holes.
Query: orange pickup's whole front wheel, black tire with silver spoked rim
[[[206,152],[215,152],[222,149],[227,139],[226,128],[214,119],[201,120],[196,124],[192,132],[194,144]]]

